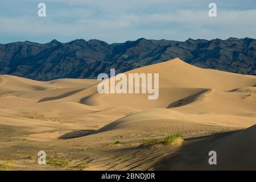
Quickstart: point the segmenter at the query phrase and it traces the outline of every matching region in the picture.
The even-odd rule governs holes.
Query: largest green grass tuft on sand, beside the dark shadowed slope
[[[142,145],[143,146],[154,146],[155,144],[164,144],[168,145],[176,145],[180,144],[183,141],[181,134],[170,135],[164,138],[151,138],[144,140]]]

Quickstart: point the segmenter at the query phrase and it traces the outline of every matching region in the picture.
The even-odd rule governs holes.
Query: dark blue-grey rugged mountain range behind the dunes
[[[110,68],[125,72],[175,57],[201,68],[256,75],[256,39],[173,40],[138,39],[108,44],[83,39],[46,44],[0,44],[0,74],[34,80],[96,78]]]

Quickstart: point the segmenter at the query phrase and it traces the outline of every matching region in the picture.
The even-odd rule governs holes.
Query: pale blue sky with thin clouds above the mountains
[[[256,0],[0,0],[0,43],[230,37],[256,38]]]

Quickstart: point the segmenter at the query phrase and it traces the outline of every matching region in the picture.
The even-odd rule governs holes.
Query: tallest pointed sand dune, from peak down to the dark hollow
[[[136,109],[166,108],[183,98],[190,97],[190,102],[193,100],[191,96],[201,95],[204,90],[230,91],[253,86],[256,82],[255,76],[197,68],[180,59],[134,69],[126,72],[126,75],[129,73],[159,73],[158,100],[148,100],[145,94],[98,94],[94,86],[93,94],[86,96],[81,103],[94,106],[127,106]]]

